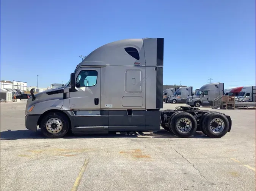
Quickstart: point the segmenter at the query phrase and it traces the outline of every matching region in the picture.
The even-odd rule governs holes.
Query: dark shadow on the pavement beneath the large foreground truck
[[[110,132],[109,134],[93,134],[93,135],[74,135],[70,132],[66,136],[61,139],[90,139],[90,138],[179,138],[177,136],[173,136],[170,132],[161,129],[160,131],[145,131],[145,132]],[[204,135],[202,132],[196,132],[190,138],[209,138]],[[6,129],[6,131],[0,132],[1,140],[17,140],[17,139],[48,139],[45,137],[40,129],[37,132],[33,132],[27,129],[11,131],[10,129]],[[188,138],[186,138],[188,139]]]

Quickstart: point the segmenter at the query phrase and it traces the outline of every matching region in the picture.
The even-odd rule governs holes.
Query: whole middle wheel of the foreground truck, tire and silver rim
[[[188,112],[176,112],[170,120],[171,131],[179,137],[190,137],[196,132],[197,122]]]

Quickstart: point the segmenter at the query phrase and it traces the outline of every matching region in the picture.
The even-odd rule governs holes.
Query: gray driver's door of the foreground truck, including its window
[[[80,68],[75,74],[75,87],[78,91],[70,92],[71,109],[101,109],[101,68]]]

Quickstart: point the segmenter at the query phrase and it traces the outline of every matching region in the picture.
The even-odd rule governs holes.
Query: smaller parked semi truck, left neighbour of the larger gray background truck
[[[168,103],[186,103],[187,97],[193,95],[193,87],[181,87],[168,97]]]

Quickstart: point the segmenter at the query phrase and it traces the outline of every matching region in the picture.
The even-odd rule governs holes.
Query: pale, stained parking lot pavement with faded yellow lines
[[[0,105],[1,191],[255,190],[255,110],[221,110],[232,119],[221,139],[164,129],[45,139],[25,128],[25,104]]]

